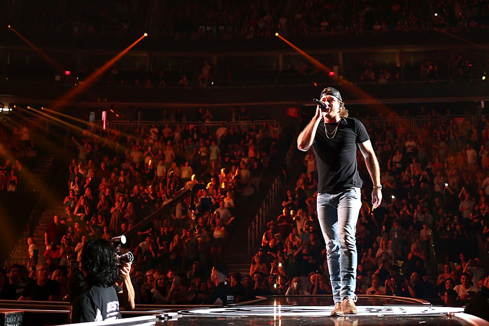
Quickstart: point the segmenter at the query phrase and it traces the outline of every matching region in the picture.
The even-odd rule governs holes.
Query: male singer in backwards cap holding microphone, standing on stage
[[[379,163],[365,126],[348,111],[340,92],[332,87],[321,92],[320,105],[297,138],[297,147],[312,146],[316,156],[317,215],[326,242],[334,309],[331,316],[357,314],[355,280],[356,223],[361,206],[362,180],[357,170],[357,144],[373,183],[374,208],[382,200]]]

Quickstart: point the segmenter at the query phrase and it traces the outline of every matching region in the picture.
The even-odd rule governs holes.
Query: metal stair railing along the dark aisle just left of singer
[[[297,147],[295,142],[292,142],[290,148],[285,156],[285,164],[287,169],[290,168],[292,162],[292,155]],[[263,232],[263,227],[266,223],[266,218],[270,214],[271,208],[278,198],[278,194],[282,189],[284,181],[281,179],[281,175],[278,174],[270,186],[270,190],[265,196],[263,203],[261,204],[255,218],[248,227],[248,255],[251,249],[255,247],[256,244],[261,243],[261,236]]]

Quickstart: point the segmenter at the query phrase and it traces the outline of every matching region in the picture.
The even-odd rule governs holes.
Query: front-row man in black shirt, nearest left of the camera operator
[[[59,301],[61,292],[57,281],[49,280],[49,267],[47,264],[36,266],[36,279],[30,282],[18,300]]]

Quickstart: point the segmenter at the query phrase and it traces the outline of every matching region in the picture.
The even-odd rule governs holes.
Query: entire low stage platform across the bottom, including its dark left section
[[[3,302],[5,303],[5,302]],[[17,302],[22,311],[21,325],[65,324],[69,306]],[[10,302],[9,310],[15,302]],[[25,304],[23,306],[22,304]],[[41,303],[37,303],[40,305]],[[55,303],[52,303],[56,305]],[[61,303],[59,303],[61,304]],[[1,305],[5,306],[5,305]],[[6,308],[6,307],[1,307]],[[142,306],[123,312],[115,322],[77,324],[80,326],[489,326],[489,322],[463,313],[459,307],[434,307],[429,302],[389,296],[359,296],[358,315],[330,317],[332,296],[257,297],[229,307],[217,306]],[[1,310],[0,310],[1,312]],[[63,320],[63,322],[60,322]]]

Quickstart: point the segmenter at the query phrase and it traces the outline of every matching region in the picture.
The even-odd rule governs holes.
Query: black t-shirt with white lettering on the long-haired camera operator
[[[114,287],[92,286],[73,303],[71,323],[100,322],[121,318]]]

